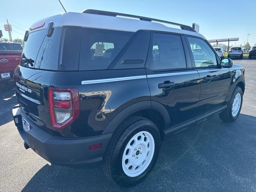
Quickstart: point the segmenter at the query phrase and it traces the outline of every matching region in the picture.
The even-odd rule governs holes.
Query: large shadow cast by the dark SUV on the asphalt
[[[46,164],[22,191],[252,191],[255,128],[255,116],[240,114],[232,123],[216,116],[186,130],[162,143],[156,166],[132,188],[111,184],[101,168]]]

